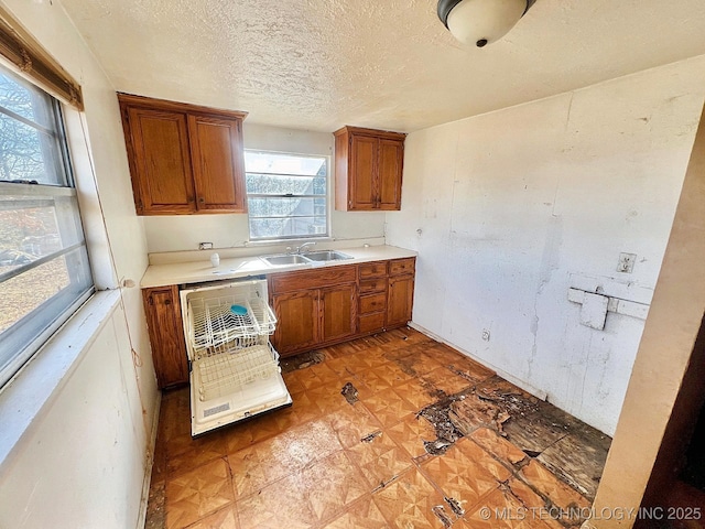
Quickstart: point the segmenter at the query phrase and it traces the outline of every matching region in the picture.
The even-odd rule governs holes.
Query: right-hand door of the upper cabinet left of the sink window
[[[197,209],[245,212],[241,121],[191,115],[188,133]]]

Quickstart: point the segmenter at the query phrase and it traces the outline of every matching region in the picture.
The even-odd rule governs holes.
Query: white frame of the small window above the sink
[[[248,191],[247,187],[247,177],[249,174],[269,174],[269,175],[273,175],[273,176],[293,176],[293,177],[315,177],[315,175],[303,175],[303,174],[290,174],[290,173],[262,173],[262,172],[249,172],[247,170],[247,162],[245,164],[245,180],[246,180],[246,185],[245,185],[245,194],[246,194],[246,201],[248,204],[248,240],[250,242],[276,242],[276,241],[291,241],[291,240],[304,240],[304,239],[315,239],[315,240],[321,240],[321,239],[326,239],[326,238],[330,238],[332,237],[332,226],[330,226],[330,209],[332,209],[332,202],[333,202],[333,197],[332,197],[332,176],[330,176],[330,169],[332,169],[332,160],[330,160],[330,155],[328,154],[313,154],[313,153],[300,153],[300,152],[292,152],[292,151],[280,151],[280,150],[273,150],[273,149],[243,149],[243,154],[247,154],[248,152],[256,152],[256,153],[264,153],[264,154],[281,154],[281,155],[288,155],[288,156],[292,156],[292,158],[314,158],[314,159],[323,159],[325,160],[325,165],[326,165],[326,175],[325,175],[325,180],[326,180],[326,191],[324,195],[312,195],[312,194],[301,194],[301,195],[294,195],[294,194],[264,194],[264,193],[250,193]],[[254,217],[254,218],[310,218],[310,217],[324,217],[326,220],[326,229],[325,233],[323,234],[294,234],[294,235],[284,235],[284,236],[276,236],[276,237],[253,237],[252,236],[252,216],[249,213],[250,212],[250,207],[249,207],[249,202],[250,198],[312,198],[312,199],[316,199],[316,198],[324,198],[325,199],[325,215],[299,215],[299,216],[292,216],[292,215],[288,215],[288,216],[267,216],[267,217]]]

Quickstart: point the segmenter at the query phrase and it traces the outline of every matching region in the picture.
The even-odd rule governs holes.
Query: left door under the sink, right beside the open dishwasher
[[[321,319],[316,290],[274,294],[272,304],[278,320],[272,343],[282,356],[318,343]]]

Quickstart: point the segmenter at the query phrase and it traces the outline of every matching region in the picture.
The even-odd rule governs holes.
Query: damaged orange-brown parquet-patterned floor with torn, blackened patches
[[[192,440],[164,395],[149,529],[579,527],[610,439],[412,330],[282,361],[291,408]]]

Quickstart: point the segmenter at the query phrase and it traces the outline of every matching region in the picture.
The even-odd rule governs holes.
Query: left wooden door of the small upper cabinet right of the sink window
[[[350,176],[348,209],[373,209],[377,205],[377,138],[350,137]]]

